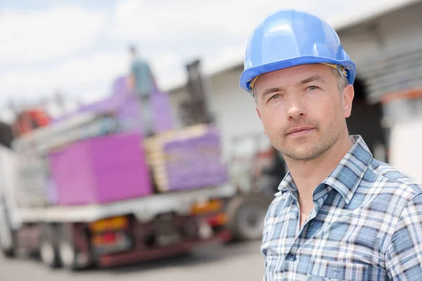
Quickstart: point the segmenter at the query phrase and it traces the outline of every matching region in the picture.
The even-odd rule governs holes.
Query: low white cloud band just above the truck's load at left
[[[4,72],[0,74],[0,84],[2,92],[14,98],[50,96],[56,89],[72,96],[84,96],[93,87],[104,91],[117,76],[126,73],[126,53],[101,52],[69,58],[49,67]]]

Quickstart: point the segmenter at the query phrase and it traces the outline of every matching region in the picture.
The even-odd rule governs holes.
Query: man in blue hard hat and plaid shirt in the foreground
[[[349,136],[356,67],[324,20],[269,15],[240,83],[288,174],[268,209],[264,280],[422,280],[422,185]]]

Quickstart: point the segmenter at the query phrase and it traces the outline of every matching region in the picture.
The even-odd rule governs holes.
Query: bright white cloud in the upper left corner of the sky
[[[106,22],[104,13],[72,6],[0,13],[0,64],[45,63],[91,46]]]

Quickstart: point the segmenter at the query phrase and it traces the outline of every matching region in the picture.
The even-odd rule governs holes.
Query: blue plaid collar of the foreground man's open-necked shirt
[[[354,145],[349,152],[341,159],[340,163],[335,167],[334,171],[324,180],[323,184],[329,185],[337,190],[343,196],[348,204],[354,195],[359,183],[362,181],[366,169],[373,159],[368,146],[364,142],[362,136],[350,136]],[[279,185],[281,194],[290,191],[293,197],[297,197],[298,188],[296,188],[290,171],[286,174]]]

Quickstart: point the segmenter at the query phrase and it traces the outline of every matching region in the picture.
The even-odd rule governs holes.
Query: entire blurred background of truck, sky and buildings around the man
[[[1,0],[0,280],[260,280],[286,166],[238,79],[281,8],[335,27],[350,133],[422,181],[422,1]]]

